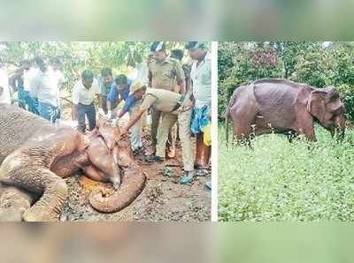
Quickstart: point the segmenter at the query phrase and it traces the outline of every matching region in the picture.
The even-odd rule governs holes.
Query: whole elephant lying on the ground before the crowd
[[[19,207],[26,210],[21,213],[25,221],[58,220],[68,195],[63,178],[79,170],[113,184],[112,196],[98,190],[90,194],[90,204],[101,212],[127,207],[144,188],[146,177],[136,167],[130,141],[120,138],[118,127],[101,125],[83,135],[5,105],[0,105],[0,127],[1,189],[12,192],[17,199],[12,203],[23,202]],[[31,193],[40,198],[35,201]]]

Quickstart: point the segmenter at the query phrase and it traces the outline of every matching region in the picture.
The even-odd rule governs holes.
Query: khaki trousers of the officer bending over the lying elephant
[[[163,113],[161,124],[158,125],[156,155],[165,158],[165,143],[168,139],[168,132],[173,124],[178,121],[185,171],[191,171],[194,169],[194,154],[192,151],[192,140],[190,134],[191,118],[192,109],[185,109],[177,113]]]

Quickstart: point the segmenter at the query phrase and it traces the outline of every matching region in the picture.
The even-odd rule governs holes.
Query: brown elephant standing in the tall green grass
[[[233,122],[237,140],[274,132],[289,135],[290,141],[297,134],[316,141],[315,122],[342,139],[345,128],[344,106],[334,86],[317,89],[288,79],[259,79],[237,87],[227,121]]]

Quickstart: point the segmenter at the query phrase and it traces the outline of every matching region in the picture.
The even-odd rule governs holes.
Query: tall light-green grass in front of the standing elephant
[[[354,222],[354,130],[342,143],[316,134],[317,143],[263,135],[251,149],[227,147],[219,128],[219,221]]]

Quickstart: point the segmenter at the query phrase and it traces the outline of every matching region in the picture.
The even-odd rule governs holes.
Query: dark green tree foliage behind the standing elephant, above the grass
[[[219,43],[219,119],[236,86],[262,78],[286,78],[315,87],[332,85],[354,121],[354,45],[351,42]]]

